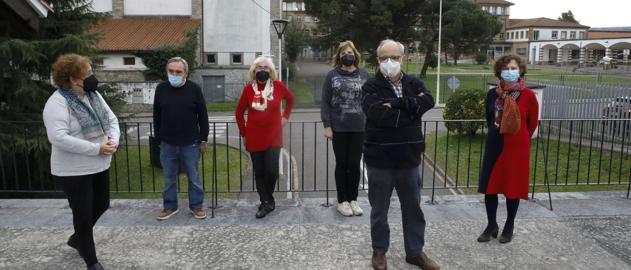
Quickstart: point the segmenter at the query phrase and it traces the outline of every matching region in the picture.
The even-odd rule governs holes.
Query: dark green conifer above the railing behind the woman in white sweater
[[[95,57],[98,34],[85,32],[105,13],[95,13],[91,1],[49,0],[54,12],[40,18],[38,32],[0,32],[0,119],[38,120],[56,90],[50,84],[52,63],[62,54]],[[9,25],[0,17],[1,25]]]

